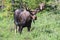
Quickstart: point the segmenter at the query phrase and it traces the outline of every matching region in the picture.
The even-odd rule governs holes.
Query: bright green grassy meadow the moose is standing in
[[[0,13],[0,40],[60,40],[60,14],[46,12],[37,14],[31,32],[24,28],[22,34],[15,33],[13,17]]]

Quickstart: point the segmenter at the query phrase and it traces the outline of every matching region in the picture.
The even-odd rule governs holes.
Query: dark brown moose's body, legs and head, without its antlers
[[[19,27],[18,31],[21,33],[24,27],[28,28],[30,31],[32,21],[35,21],[37,18],[36,13],[32,13],[30,10],[26,9],[17,9],[14,13],[14,23],[16,25],[16,32],[17,26]]]

